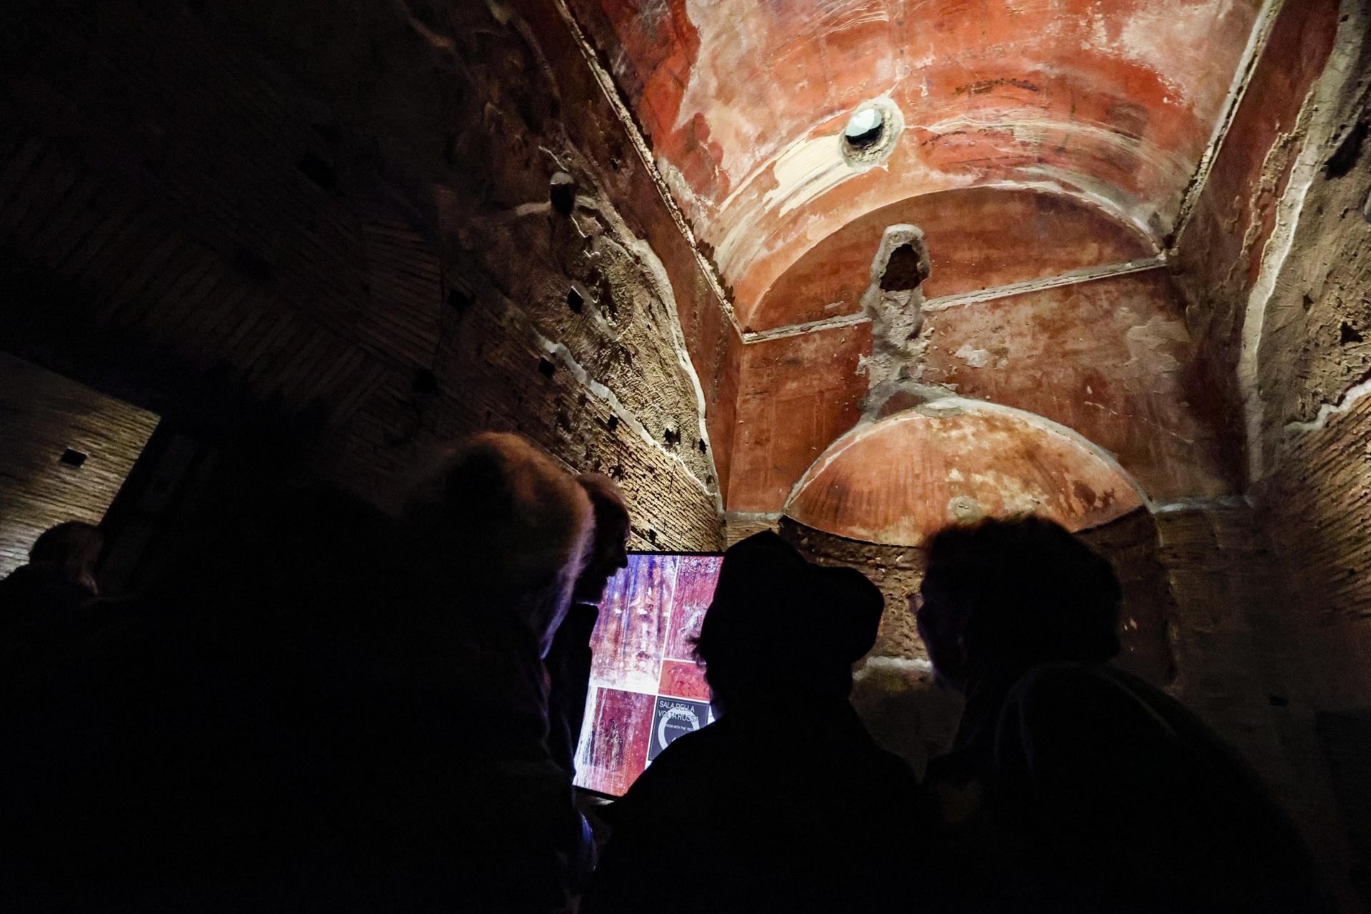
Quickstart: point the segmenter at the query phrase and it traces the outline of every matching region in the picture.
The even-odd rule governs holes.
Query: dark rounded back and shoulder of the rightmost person
[[[1260,778],[1196,714],[1121,670],[1027,673],[998,721],[995,770],[1031,870],[1061,885],[1149,899],[1146,910],[1322,910],[1308,851]]]

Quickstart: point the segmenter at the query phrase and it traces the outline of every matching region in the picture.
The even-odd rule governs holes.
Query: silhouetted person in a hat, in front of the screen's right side
[[[890,910],[917,784],[847,700],[880,614],[858,571],[810,565],[775,533],[729,548],[696,643],[718,719],[610,807],[583,911]]]

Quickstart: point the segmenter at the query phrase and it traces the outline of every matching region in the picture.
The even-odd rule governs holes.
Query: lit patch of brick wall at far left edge
[[[0,577],[49,526],[99,523],[156,425],[152,412],[0,354]],[[80,466],[63,462],[69,449]]]

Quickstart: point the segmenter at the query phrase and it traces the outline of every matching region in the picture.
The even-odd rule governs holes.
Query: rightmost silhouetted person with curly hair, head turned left
[[[1308,852],[1253,771],[1111,663],[1119,600],[1109,563],[1050,521],[930,544],[912,602],[967,707],[925,787],[982,867],[973,910],[1322,910]]]

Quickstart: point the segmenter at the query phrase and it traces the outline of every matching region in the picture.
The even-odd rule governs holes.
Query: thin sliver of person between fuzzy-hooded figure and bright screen
[[[576,482],[591,499],[595,532],[585,567],[576,580],[572,606],[557,629],[547,654],[548,696],[547,745],[566,773],[576,776],[576,747],[585,718],[585,696],[591,682],[591,634],[599,618],[609,580],[628,567],[628,506],[618,486],[600,473],[583,473]]]

